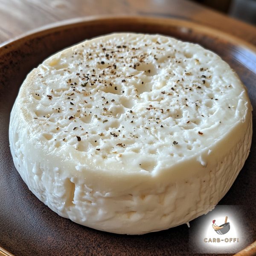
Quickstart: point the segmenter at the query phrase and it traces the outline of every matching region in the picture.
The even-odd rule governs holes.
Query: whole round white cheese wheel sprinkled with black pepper
[[[143,234],[218,204],[249,154],[251,111],[215,53],[161,35],[112,34],[29,73],[10,147],[29,189],[59,215]]]

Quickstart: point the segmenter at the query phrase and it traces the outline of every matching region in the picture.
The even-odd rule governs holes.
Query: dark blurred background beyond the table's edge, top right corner
[[[256,0],[193,0],[204,6],[256,25]]]

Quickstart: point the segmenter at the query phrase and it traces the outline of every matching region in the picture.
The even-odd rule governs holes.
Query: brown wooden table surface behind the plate
[[[90,15],[191,20],[256,45],[256,27],[188,0],[0,0],[0,43],[49,23]]]

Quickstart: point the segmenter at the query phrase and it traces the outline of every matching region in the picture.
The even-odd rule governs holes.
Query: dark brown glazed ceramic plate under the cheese
[[[184,20],[101,17],[72,20],[30,33],[0,46],[0,247],[22,255],[179,255],[189,254],[189,229],[181,225],[143,236],[105,233],[61,218],[39,201],[16,171],[9,150],[9,115],[26,74],[52,53],[110,32],[160,33],[201,44],[239,74],[256,108],[256,49],[244,41]],[[253,127],[256,116],[253,112]],[[255,253],[256,137],[250,155],[221,205],[247,212],[247,251]],[[191,226],[200,221],[191,221]],[[1,253],[0,253],[1,254]]]

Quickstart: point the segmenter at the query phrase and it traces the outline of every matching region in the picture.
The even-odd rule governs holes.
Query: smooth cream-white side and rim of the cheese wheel
[[[126,36],[109,35],[94,41]],[[166,40],[159,35],[152,37],[155,41]],[[169,40],[177,43],[175,39]],[[91,41],[82,44],[91,44]],[[229,75],[233,75],[231,80],[239,92],[235,122],[232,128],[226,126],[228,131],[218,134],[218,140],[189,157],[180,157],[175,164],[170,165],[168,159],[162,160],[152,172],[132,168],[128,168],[128,172],[118,168],[106,172],[104,166],[97,166],[97,161],[96,165],[85,161],[83,152],[72,146],[68,147],[68,152],[67,148],[59,147],[51,154],[49,141],[40,138],[42,131],[39,130],[38,134],[37,120],[28,108],[27,99],[29,93],[34,91],[39,72],[42,73],[46,64],[58,59],[60,54],[64,56],[74,52],[82,44],[52,56],[33,70],[24,81],[15,102],[10,121],[11,151],[15,166],[29,189],[59,215],[114,233],[138,234],[163,230],[191,221],[211,210],[232,185],[250,149],[251,105],[238,77],[224,61],[211,53],[218,64],[224,65]],[[143,97],[143,93],[140,96]],[[47,131],[45,125],[39,128]],[[128,154],[126,164],[129,164],[129,157],[134,158],[134,154]],[[114,162],[117,166],[118,161]],[[147,157],[140,161],[146,162]],[[108,169],[108,165],[105,167]]]

